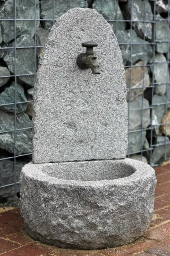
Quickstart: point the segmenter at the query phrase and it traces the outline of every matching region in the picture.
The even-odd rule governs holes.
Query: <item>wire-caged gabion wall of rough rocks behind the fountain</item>
[[[103,14],[120,44],[127,156],[151,166],[170,157],[169,0],[0,0],[0,202],[16,202],[21,168],[31,159],[32,94],[42,46],[57,17],[73,7]]]

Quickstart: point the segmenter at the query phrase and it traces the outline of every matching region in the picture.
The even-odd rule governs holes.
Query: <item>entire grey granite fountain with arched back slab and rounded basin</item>
[[[32,162],[20,178],[27,234],[83,250],[141,237],[153,214],[155,171],[126,158],[122,55],[98,12],[75,8],[56,21],[33,101]]]

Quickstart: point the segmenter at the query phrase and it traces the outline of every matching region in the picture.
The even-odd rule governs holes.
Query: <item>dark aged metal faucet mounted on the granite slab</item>
[[[77,58],[77,65],[81,69],[91,68],[92,74],[100,74],[97,57],[94,57],[94,49],[98,44],[95,42],[85,42],[82,47],[87,47],[86,53],[80,53]]]

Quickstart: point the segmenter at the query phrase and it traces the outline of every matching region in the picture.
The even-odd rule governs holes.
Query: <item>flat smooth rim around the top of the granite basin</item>
[[[73,179],[60,179],[53,177],[49,174],[46,174],[43,169],[46,167],[52,166],[52,165],[78,165],[80,163],[88,163],[88,162],[94,162],[96,164],[99,163],[106,163],[106,162],[114,162],[116,163],[123,163],[127,166],[130,166],[132,169],[134,169],[134,173],[131,175],[128,175],[123,178],[116,178],[116,179],[100,179],[100,180],[73,180]],[[106,169],[107,170],[107,169]],[[30,179],[38,180],[39,182],[45,182],[48,185],[57,185],[57,186],[78,186],[78,187],[84,187],[84,186],[92,186],[92,187],[104,187],[104,186],[113,186],[113,185],[128,185],[129,182],[139,182],[143,179],[150,179],[153,174],[155,173],[154,169],[146,163],[143,163],[141,161],[137,161],[130,158],[124,158],[124,159],[115,159],[115,160],[94,160],[94,161],[81,161],[81,162],[63,162],[63,163],[42,163],[42,164],[33,164],[30,162],[29,164],[25,165],[22,169],[22,173],[24,175],[27,175]]]

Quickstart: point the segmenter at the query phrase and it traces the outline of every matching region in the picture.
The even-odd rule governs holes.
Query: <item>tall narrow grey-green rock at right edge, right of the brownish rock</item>
[[[152,63],[153,59],[150,60]],[[154,70],[153,70],[154,69]],[[155,93],[158,95],[164,95],[166,92],[166,84],[168,81],[168,65],[164,54],[155,54],[154,68],[151,66],[151,71],[154,71],[155,77]]]

